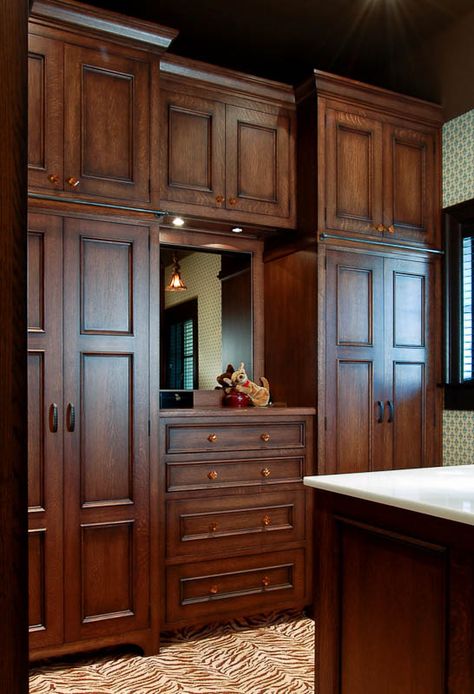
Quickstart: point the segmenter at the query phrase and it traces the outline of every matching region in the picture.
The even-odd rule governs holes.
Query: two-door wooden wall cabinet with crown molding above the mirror
[[[161,72],[163,206],[195,216],[294,226],[291,90],[169,56]]]

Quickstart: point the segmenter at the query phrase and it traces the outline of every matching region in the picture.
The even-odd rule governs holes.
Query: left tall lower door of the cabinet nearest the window
[[[363,472],[383,460],[383,259],[327,252],[323,471]]]

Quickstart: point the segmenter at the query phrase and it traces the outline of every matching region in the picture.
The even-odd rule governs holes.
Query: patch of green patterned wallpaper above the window
[[[443,125],[443,207],[474,198],[474,109]]]

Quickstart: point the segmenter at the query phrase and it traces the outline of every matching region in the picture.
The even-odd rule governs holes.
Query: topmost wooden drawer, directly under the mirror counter
[[[304,445],[304,421],[166,425],[166,453],[272,450]]]

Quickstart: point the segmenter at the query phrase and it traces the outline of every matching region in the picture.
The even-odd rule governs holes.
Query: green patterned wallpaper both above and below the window
[[[474,198],[474,110],[443,125],[443,207]],[[443,464],[474,464],[474,412],[443,413]]]

